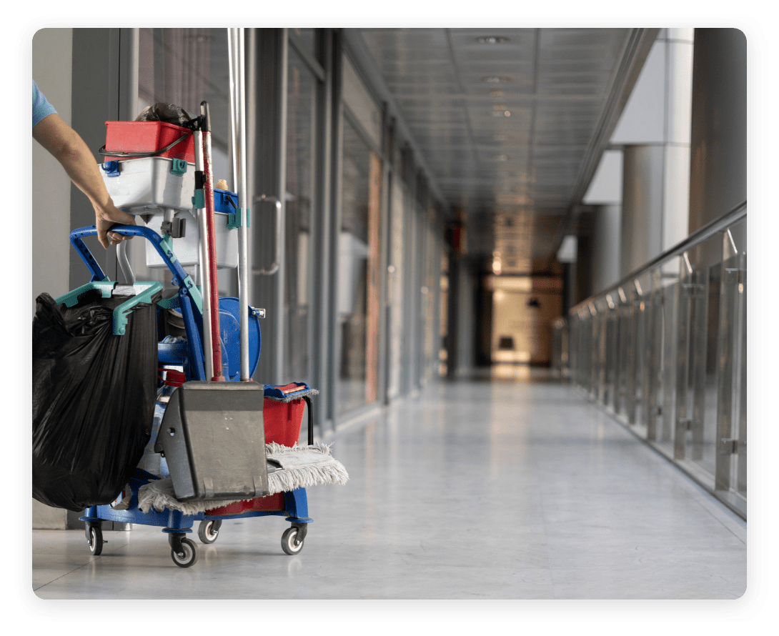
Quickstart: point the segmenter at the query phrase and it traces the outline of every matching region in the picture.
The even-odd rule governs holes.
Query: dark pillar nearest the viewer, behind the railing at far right
[[[746,75],[742,31],[695,30],[690,232],[746,200]],[[746,249],[744,226],[735,237],[739,251]]]

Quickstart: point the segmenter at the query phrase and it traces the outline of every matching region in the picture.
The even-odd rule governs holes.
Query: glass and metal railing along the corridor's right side
[[[573,307],[555,338],[590,399],[746,518],[746,329],[744,205]]]

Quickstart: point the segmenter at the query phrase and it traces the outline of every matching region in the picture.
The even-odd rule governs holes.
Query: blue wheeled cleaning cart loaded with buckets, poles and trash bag
[[[144,221],[111,231],[142,237],[146,265],[167,269],[177,293],[163,298],[160,283],[137,282],[132,275],[129,285],[108,279],[83,241],[97,230],[82,227],[73,230],[70,239],[90,270],[91,280],[51,304],[51,313],[64,317],[55,316],[55,322],[77,323],[79,329],[96,322],[94,316],[108,316],[105,319],[111,325],[106,341],[112,344],[118,339],[139,341],[140,325],[143,319],[149,322],[149,316],[152,326],[146,325],[146,331],[156,332],[152,360],[147,353],[111,353],[112,368],[124,365],[125,375],[135,374],[137,365],[143,365],[143,378],[120,379],[110,391],[112,395],[139,391],[143,397],[129,402],[144,402],[139,408],[146,409],[143,418],[150,417],[140,427],[132,428],[132,421],[122,424],[132,428],[134,437],[132,443],[111,441],[115,446],[125,444],[115,452],[122,460],[113,462],[120,466],[112,465],[113,482],[107,486],[116,496],[106,501],[105,494],[100,494],[100,500],[90,503],[80,517],[95,555],[103,550],[104,521],[156,525],[167,533],[174,563],[189,567],[196,563],[197,548],[186,535],[195,522],[199,522],[199,539],[213,543],[225,519],[266,515],[281,515],[291,523],[281,544],[285,553],[295,554],[302,549],[312,522],[306,487],[345,483],[348,478],[344,466],[330,456],[330,448],[313,443],[311,398],[315,389],[304,382],[277,386],[252,381],[262,350],[263,310],[249,305],[247,292],[243,33],[240,29],[228,32],[238,192],[214,187],[210,112],[205,101],[197,118],[184,117],[177,123],[107,122],[106,145],[101,149],[105,157],[101,170],[115,205]],[[129,265],[121,249],[119,263],[127,277]],[[220,267],[238,268],[238,298],[218,296]],[[72,313],[79,307],[86,318]],[[39,325],[38,331],[45,330]],[[35,325],[33,338],[34,333]],[[138,346],[149,350],[147,344]],[[147,388],[136,388],[149,385],[147,367],[156,375],[151,378],[151,398]],[[146,404],[148,399],[152,403]],[[127,414],[130,406],[122,409],[122,421],[132,420]],[[300,446],[298,435],[306,410],[308,445]],[[72,475],[75,463],[51,444],[55,424],[46,428],[36,421],[33,416],[33,473],[37,465],[44,474],[56,462],[70,462],[65,469]],[[122,437],[121,431],[111,433],[112,440]],[[127,466],[128,462],[132,465]],[[86,497],[74,494],[75,487],[65,492],[64,482],[60,483],[63,507],[73,508]]]

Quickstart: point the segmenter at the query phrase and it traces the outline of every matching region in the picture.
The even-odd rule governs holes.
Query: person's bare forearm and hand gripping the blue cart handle
[[[108,234],[108,228],[115,223],[135,225],[136,221],[132,214],[118,209],[111,201],[97,162],[79,134],[55,113],[37,123],[33,128],[33,137],[62,163],[70,180],[90,199],[95,209],[95,226],[100,244],[108,249],[109,241],[115,245],[125,238],[132,238],[113,232]]]

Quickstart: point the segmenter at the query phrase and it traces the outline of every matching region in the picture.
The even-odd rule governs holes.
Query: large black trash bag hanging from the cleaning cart
[[[72,511],[110,504],[151,437],[157,307],[138,304],[123,336],[97,290],[74,307],[37,297],[33,318],[33,497]]]

